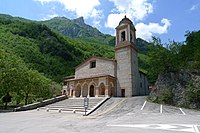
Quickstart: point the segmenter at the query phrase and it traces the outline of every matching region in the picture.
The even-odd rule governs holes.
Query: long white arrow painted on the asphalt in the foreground
[[[109,127],[130,127],[130,128],[146,128],[157,130],[170,130],[180,132],[199,133],[198,125],[190,124],[124,124],[124,125],[107,125]]]

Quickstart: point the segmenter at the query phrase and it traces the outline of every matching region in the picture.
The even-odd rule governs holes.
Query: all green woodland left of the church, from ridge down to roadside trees
[[[0,98],[10,94],[13,103],[27,104],[60,94],[57,83],[92,55],[113,58],[114,49],[71,39],[39,22],[0,15]]]

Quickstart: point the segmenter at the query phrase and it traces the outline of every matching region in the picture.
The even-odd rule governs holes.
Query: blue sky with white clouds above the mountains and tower
[[[0,0],[0,13],[38,21],[83,16],[87,24],[111,35],[126,14],[137,37],[157,36],[164,43],[184,41],[186,31],[200,30],[200,0]]]

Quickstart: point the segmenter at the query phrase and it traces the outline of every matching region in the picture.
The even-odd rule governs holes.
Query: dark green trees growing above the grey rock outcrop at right
[[[149,76],[156,80],[166,71],[200,71],[200,31],[189,32],[185,42],[171,41],[162,44],[159,38],[153,38],[149,45]]]

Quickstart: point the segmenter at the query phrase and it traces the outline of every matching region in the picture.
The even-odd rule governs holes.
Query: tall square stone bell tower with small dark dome
[[[138,56],[135,27],[126,16],[116,27],[117,96],[138,95]]]

